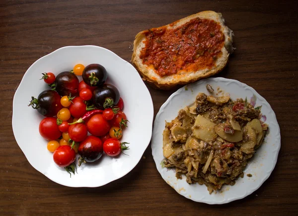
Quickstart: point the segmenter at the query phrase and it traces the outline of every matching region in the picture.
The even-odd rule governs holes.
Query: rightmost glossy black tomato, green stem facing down
[[[104,84],[93,91],[93,103],[98,109],[113,107],[119,102],[120,94],[118,89],[111,84]]]

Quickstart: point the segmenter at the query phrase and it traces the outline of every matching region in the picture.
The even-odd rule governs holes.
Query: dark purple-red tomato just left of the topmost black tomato
[[[78,93],[78,78],[72,72],[61,72],[56,76],[56,91],[61,95],[76,95]]]

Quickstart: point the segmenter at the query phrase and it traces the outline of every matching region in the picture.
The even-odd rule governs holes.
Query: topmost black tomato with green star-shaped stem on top
[[[101,86],[108,78],[107,71],[99,64],[86,66],[83,71],[83,80],[90,86]]]

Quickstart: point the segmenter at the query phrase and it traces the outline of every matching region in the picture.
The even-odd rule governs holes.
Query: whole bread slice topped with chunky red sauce
[[[132,63],[144,80],[169,89],[222,71],[232,51],[222,14],[202,11],[138,33]]]

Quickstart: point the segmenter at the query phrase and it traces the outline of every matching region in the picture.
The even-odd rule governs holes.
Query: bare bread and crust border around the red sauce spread
[[[209,77],[224,69],[225,65],[228,62],[229,54],[233,52],[233,32],[224,24],[224,18],[221,13],[217,13],[214,11],[202,11],[159,28],[177,28],[194,18],[212,19],[221,26],[221,31],[224,34],[224,46],[221,49],[222,55],[220,55],[220,57],[215,60],[213,67],[204,68],[198,71],[180,70],[175,74],[160,76],[158,73],[156,73],[155,69],[152,66],[150,67],[144,64],[143,59],[140,58],[141,50],[145,47],[145,43],[143,42],[146,40],[146,33],[148,33],[150,30],[157,29],[152,28],[138,33],[134,41],[132,63],[136,67],[138,72],[141,74],[141,76],[143,76],[144,80],[154,84],[157,88],[171,89],[177,85],[187,84],[190,82],[197,81],[201,78]]]

